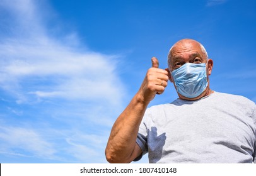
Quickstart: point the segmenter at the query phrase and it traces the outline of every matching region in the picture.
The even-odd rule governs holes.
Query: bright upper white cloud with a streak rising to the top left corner
[[[115,70],[117,56],[86,48],[78,52],[68,43],[62,43],[62,39],[46,35],[33,1],[3,1],[1,5],[18,21],[13,33],[26,33],[25,38],[13,35],[0,43],[0,86],[6,91],[16,92],[18,102],[27,101],[26,96],[32,95],[39,98],[105,99],[110,104],[120,101],[120,92],[124,92],[124,88]],[[15,25],[9,24],[10,28]],[[66,38],[70,43],[79,43],[74,33],[67,34]],[[28,90],[24,82],[33,85],[42,82],[44,85]]]

